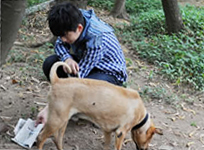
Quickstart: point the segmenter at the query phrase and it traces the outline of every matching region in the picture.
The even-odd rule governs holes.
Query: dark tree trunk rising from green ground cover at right
[[[177,0],[162,0],[166,17],[166,26],[169,34],[178,33],[183,28],[182,16]]]

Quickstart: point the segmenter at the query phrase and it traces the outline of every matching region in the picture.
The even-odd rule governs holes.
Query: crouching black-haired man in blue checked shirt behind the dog
[[[93,10],[79,10],[70,3],[58,4],[48,14],[49,28],[58,36],[55,55],[48,57],[43,71],[49,80],[52,65],[66,62],[74,75],[104,80],[122,86],[127,79],[123,51],[114,30],[96,17]],[[59,67],[59,77],[67,77],[66,68]],[[47,106],[38,114],[36,123],[45,123]]]

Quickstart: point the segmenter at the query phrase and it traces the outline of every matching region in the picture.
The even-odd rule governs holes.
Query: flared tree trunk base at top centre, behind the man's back
[[[118,17],[129,20],[129,16],[125,9],[125,0],[115,0],[115,4],[110,15],[112,15],[114,18]]]

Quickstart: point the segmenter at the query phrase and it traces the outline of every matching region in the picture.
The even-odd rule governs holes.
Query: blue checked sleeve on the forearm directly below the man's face
[[[57,56],[59,56],[61,61],[65,61],[68,58],[72,58],[72,56],[69,53],[69,47],[65,46],[60,38],[57,39],[55,43],[55,53]]]

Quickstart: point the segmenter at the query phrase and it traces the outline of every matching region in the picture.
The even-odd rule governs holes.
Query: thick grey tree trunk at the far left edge
[[[6,56],[16,39],[18,29],[25,12],[26,0],[1,1],[1,60],[0,66],[5,62]]]

